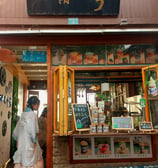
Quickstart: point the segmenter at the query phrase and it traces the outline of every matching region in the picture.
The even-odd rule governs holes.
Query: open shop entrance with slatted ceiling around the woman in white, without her
[[[0,95],[3,95],[5,101],[3,101],[3,105],[1,104],[3,113],[1,112],[0,124],[4,123],[4,133],[0,139],[2,138],[4,143],[0,146],[0,167],[9,158],[12,158],[16,150],[12,132],[23,108],[26,107],[28,97],[32,95],[39,97],[41,103],[37,112],[38,117],[47,105],[46,53],[47,46],[1,45]]]

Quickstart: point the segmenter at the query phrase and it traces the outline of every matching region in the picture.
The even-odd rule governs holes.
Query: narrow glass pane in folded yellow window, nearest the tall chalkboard
[[[72,117],[72,74],[68,70],[68,131],[73,130],[73,117]]]

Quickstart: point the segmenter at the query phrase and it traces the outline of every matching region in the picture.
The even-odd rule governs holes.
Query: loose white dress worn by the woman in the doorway
[[[17,140],[17,151],[13,156],[14,168],[43,168],[42,150],[37,140],[38,132],[37,116],[27,107],[13,132],[13,137]]]

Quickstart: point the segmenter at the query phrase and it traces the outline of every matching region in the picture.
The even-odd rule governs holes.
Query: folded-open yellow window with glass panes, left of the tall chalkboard
[[[74,70],[66,65],[54,69],[54,133],[66,136],[74,131]]]

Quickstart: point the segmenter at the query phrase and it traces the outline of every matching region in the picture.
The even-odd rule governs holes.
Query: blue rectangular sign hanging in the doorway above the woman
[[[47,52],[24,50],[22,52],[22,61],[23,62],[47,62]]]

